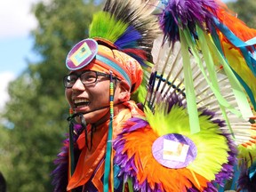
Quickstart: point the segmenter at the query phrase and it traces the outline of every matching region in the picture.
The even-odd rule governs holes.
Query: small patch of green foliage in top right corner
[[[237,14],[250,28],[256,28],[256,1],[255,0],[236,0],[229,2],[228,8]]]

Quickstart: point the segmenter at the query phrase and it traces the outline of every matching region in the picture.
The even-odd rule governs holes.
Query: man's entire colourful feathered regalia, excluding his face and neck
[[[55,191],[256,190],[255,29],[218,0],[107,0],[87,43],[135,101],[96,130],[70,115]]]

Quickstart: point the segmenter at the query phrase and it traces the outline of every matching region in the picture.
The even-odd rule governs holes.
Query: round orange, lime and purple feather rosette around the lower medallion
[[[214,113],[200,110],[202,130],[191,134],[182,97],[174,92],[168,98],[169,108],[162,104],[156,106],[154,113],[145,108],[146,120],[132,118],[114,142],[114,162],[122,170],[119,176],[124,180],[131,177],[134,189],[141,191],[216,191],[213,184],[223,185],[223,180],[232,177],[236,163],[234,142],[230,134],[219,129],[223,122],[214,121]],[[180,169],[163,166],[152,155],[156,140],[172,133],[189,138],[196,145],[196,159]]]

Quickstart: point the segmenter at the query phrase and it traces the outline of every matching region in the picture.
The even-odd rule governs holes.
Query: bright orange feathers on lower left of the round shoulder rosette
[[[134,157],[139,183],[147,180],[152,189],[156,188],[156,184],[161,184],[165,191],[187,191],[192,186],[203,191],[209,182],[203,176],[187,168],[170,169],[156,161],[152,155],[152,145],[157,138],[149,126],[130,132],[129,137],[124,135],[123,153],[127,153],[129,158]]]

